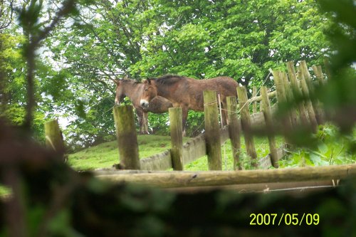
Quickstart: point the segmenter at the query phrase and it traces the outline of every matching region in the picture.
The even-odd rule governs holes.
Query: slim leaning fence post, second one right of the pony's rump
[[[263,116],[265,117],[266,121],[266,128],[273,128],[272,122],[272,113],[271,107],[268,99],[268,91],[266,86],[261,88],[261,95],[262,95],[262,102],[263,102]],[[271,153],[271,163],[273,167],[278,168],[278,154],[277,154],[277,145],[276,145],[276,138],[270,132],[268,132],[268,144]]]

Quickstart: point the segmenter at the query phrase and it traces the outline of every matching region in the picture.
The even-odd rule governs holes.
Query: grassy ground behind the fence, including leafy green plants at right
[[[279,161],[283,167],[322,166],[330,164],[352,164],[356,162],[356,152],[350,152],[350,146],[356,144],[356,130],[351,136],[337,136],[337,130],[333,126],[323,126],[317,135],[318,147],[315,149],[298,148],[290,151],[290,154]],[[140,159],[150,157],[152,154],[163,152],[170,148],[170,138],[157,135],[139,135]],[[187,142],[184,137],[183,142]],[[277,137],[277,147],[283,144],[283,138]],[[266,137],[254,137],[258,158],[269,153],[268,139]],[[227,140],[221,148],[223,170],[233,170],[233,159],[230,141]],[[246,154],[244,137],[241,137],[241,163],[244,169],[251,169],[249,157]],[[111,168],[113,164],[119,163],[117,142],[105,142],[95,147],[83,149],[75,154],[69,154],[68,164],[77,170],[93,170]],[[184,170],[204,171],[208,170],[207,158],[201,157],[194,162],[186,164]]]

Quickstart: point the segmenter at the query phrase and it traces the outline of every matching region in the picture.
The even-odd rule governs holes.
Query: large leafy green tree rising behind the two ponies
[[[259,86],[268,68],[277,69],[286,60],[320,64],[320,56],[329,48],[323,36],[328,23],[309,0],[130,0],[115,4],[105,0],[93,3],[75,20],[63,22],[46,41],[51,57],[70,73],[64,84],[73,95],[58,105],[68,116],[83,117],[83,110],[94,110],[98,95],[113,100],[108,78],[124,74],[137,80],[165,73],[194,78],[229,75],[244,85]],[[93,103],[85,109],[74,106],[74,112],[78,100],[73,98],[83,94]],[[100,120],[100,130],[109,131],[103,118],[95,119]],[[166,135],[166,121],[164,115],[150,115],[152,131]],[[189,112],[187,134],[201,131],[201,121],[199,113]],[[95,131],[89,127],[95,123],[92,117],[85,117],[75,127],[84,127],[83,136],[93,137]],[[73,133],[75,128],[69,130]],[[85,140],[86,145],[91,142]]]

